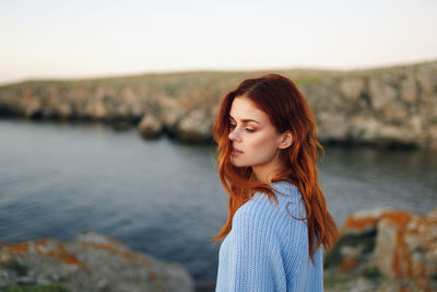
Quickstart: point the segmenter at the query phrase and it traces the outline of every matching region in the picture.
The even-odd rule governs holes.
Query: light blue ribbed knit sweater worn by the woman
[[[263,192],[243,205],[218,253],[216,292],[323,291],[322,247],[308,254],[305,202],[297,187],[287,182],[270,184],[279,208]],[[290,202],[290,203],[288,203]],[[288,207],[287,207],[288,206]]]

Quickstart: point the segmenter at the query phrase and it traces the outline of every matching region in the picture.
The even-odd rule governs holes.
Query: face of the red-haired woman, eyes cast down
[[[229,116],[231,163],[252,166],[253,172],[256,168],[264,172],[277,167],[283,136],[273,127],[269,116],[246,96],[234,98]]]

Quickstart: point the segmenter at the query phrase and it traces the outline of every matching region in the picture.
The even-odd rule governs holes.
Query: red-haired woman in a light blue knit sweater
[[[213,238],[216,291],[323,291],[322,248],[338,237],[317,174],[312,112],[287,78],[243,81],[213,137],[228,219]]]

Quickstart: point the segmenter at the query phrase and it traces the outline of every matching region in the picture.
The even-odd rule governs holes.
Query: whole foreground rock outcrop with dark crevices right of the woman
[[[389,207],[362,210],[340,231],[324,257],[326,282],[335,283],[327,291],[358,289],[357,277],[381,292],[437,289],[437,208],[428,215]]]

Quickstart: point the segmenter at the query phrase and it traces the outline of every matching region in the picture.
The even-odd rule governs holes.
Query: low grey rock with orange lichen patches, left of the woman
[[[87,232],[71,243],[54,238],[0,245],[0,288],[59,283],[71,291],[193,291],[188,272]]]

